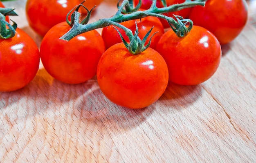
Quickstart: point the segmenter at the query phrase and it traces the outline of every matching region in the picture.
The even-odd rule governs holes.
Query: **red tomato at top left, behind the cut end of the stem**
[[[26,16],[29,26],[44,36],[54,25],[64,22],[78,0],[27,0]]]

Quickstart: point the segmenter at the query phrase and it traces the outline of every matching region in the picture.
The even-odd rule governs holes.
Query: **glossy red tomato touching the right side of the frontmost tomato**
[[[180,85],[197,85],[216,72],[221,59],[220,43],[200,26],[193,26],[186,37],[168,30],[156,49],[165,59],[169,80]]]

